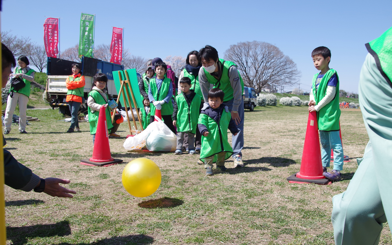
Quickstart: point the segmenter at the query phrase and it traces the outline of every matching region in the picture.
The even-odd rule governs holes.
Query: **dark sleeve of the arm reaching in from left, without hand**
[[[9,151],[3,149],[4,154],[4,182],[13,189],[22,191],[33,190],[40,182],[40,177],[31,169],[19,163]]]

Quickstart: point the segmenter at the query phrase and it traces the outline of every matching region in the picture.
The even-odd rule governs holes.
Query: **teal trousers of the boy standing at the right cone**
[[[339,131],[320,131],[320,142],[323,167],[329,167],[331,149],[334,149],[334,170],[343,170],[343,147]]]

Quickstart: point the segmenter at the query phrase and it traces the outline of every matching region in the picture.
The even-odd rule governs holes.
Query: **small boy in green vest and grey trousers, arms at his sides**
[[[199,118],[201,96],[191,89],[191,79],[183,77],[180,80],[181,94],[176,97],[174,105],[173,125],[177,126],[177,149],[176,155],[182,154],[184,134],[188,133],[189,154],[196,154],[194,149],[194,136]]]

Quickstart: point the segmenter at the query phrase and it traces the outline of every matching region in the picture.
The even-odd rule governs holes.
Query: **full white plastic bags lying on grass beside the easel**
[[[149,151],[175,151],[177,136],[158,117],[158,122],[150,123],[140,134],[128,137],[124,148],[128,151],[141,150],[144,146]]]

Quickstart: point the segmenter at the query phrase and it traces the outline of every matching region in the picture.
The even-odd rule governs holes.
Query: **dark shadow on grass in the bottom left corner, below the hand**
[[[68,236],[70,234],[71,227],[67,220],[48,225],[7,227],[7,239],[11,240],[13,244],[26,244],[28,238]]]

